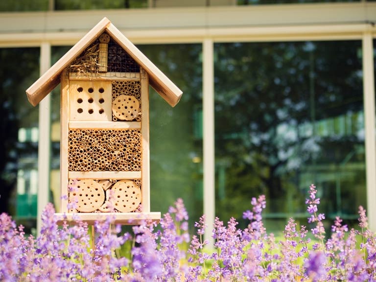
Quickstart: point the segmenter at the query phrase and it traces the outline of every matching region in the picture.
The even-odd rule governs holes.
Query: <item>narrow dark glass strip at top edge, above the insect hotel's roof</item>
[[[148,0],[55,0],[55,10],[147,8]]]

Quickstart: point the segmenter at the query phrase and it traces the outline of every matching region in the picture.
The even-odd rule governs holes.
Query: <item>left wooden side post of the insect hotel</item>
[[[69,77],[68,72],[61,74],[61,109],[60,109],[60,212],[67,212],[68,206],[68,131],[69,131]]]

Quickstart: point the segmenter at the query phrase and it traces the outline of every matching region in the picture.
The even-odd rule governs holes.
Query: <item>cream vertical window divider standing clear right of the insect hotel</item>
[[[203,170],[204,214],[208,226],[205,240],[213,247],[211,237],[215,217],[215,155],[214,155],[214,45],[210,38],[203,41]]]

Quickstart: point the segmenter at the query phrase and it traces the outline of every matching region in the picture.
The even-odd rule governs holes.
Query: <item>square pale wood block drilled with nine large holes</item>
[[[111,81],[71,81],[70,120],[112,120]]]

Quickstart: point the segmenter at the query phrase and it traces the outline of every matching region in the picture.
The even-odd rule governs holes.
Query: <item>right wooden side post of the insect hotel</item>
[[[141,68],[142,211],[150,212],[149,76]]]

